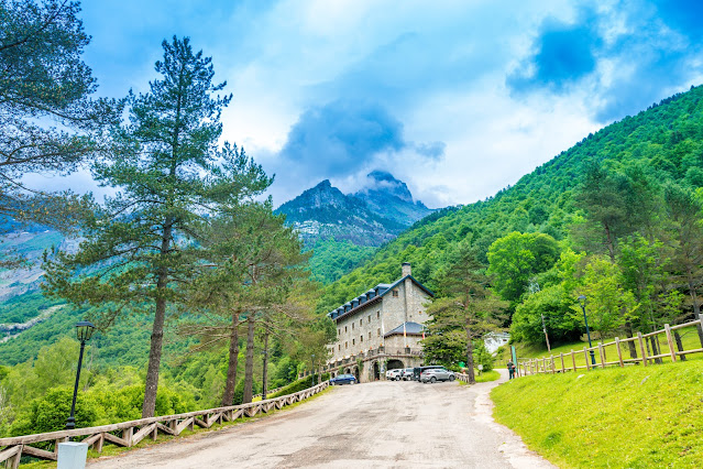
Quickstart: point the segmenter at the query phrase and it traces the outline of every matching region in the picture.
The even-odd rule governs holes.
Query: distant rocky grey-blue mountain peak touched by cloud
[[[276,212],[299,232],[307,246],[334,238],[358,246],[381,246],[432,210],[414,203],[405,183],[392,174],[374,171],[370,186],[344,195],[329,181],[283,204]]]

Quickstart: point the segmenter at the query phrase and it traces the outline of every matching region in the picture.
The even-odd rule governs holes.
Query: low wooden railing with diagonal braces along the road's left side
[[[22,456],[56,460],[58,444],[68,441],[69,438],[73,438],[75,441],[80,440],[86,443],[98,452],[101,452],[102,446],[106,443],[131,447],[146,437],[156,439],[158,432],[166,435],[178,436],[186,428],[194,429],[195,425],[202,428],[210,428],[216,423],[221,424],[222,422],[233,422],[237,418],[253,417],[259,413],[267,413],[272,410],[283,408],[286,405],[304,401],[319,393],[328,385],[329,382],[325,381],[295,394],[252,402],[249,404],[208,408],[206,411],[165,415],[161,417],[141,418],[139,421],[122,422],[119,424],[102,425],[98,427],[0,438],[0,448],[2,448],[0,450],[0,462],[4,461],[7,468],[14,469],[20,465],[20,458]],[[41,443],[47,444],[44,446],[52,450],[30,446]]]

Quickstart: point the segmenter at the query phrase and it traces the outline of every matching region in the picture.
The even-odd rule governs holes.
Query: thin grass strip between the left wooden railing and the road
[[[162,443],[166,443],[166,441],[171,441],[173,439],[180,439],[180,438],[187,438],[191,435],[198,435],[198,434],[204,434],[204,433],[210,433],[210,432],[219,432],[222,430],[224,428],[231,427],[231,426],[235,426],[235,425],[241,425],[244,422],[249,422],[249,421],[255,421],[259,418],[264,418],[268,415],[274,415],[277,414],[279,412],[285,412],[287,410],[290,408],[295,408],[298,405],[301,405],[306,402],[310,402],[317,397],[319,397],[320,395],[329,392],[330,388],[327,388],[322,391],[320,391],[319,393],[315,394],[314,396],[310,396],[308,399],[306,399],[305,401],[300,401],[300,402],[296,402],[293,404],[288,404],[283,408],[273,408],[271,411],[268,411],[267,413],[263,413],[260,412],[256,415],[254,415],[253,417],[240,417],[237,418],[235,421],[232,422],[222,422],[222,424],[216,424],[212,425],[210,428],[201,428],[196,426],[193,430],[189,428],[184,429],[180,435],[178,436],[173,436],[173,435],[166,435],[166,434],[158,434],[158,439],[156,439],[155,441],[152,440],[151,438],[144,438],[142,439],[138,445],[132,446],[131,448],[125,448],[122,446],[117,446],[117,445],[112,445],[106,441],[106,444],[102,446],[102,452],[98,452],[96,450],[94,450],[92,448],[88,449],[88,460],[90,459],[96,459],[99,457],[105,457],[105,456],[119,456],[122,455],[124,452],[131,451],[132,449],[135,448],[146,448],[153,445],[160,445]],[[44,461],[44,460],[32,460],[31,462],[23,462],[21,465],[21,467],[24,469],[53,469],[56,468],[56,461]]]

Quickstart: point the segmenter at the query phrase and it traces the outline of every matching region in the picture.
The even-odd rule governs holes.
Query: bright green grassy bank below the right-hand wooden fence
[[[700,468],[703,366],[519,378],[491,393],[494,417],[567,468]]]

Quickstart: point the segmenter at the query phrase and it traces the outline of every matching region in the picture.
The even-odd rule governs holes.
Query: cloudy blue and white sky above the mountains
[[[211,56],[222,140],[275,174],[276,206],[373,170],[470,204],[703,84],[700,1],[85,0],[81,18],[100,96],[146,91],[174,34]]]

